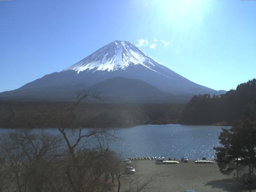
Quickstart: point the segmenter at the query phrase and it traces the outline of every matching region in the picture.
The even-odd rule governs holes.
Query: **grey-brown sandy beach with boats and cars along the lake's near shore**
[[[189,189],[195,192],[242,192],[233,176],[224,176],[219,172],[216,162],[196,164],[194,160],[189,160],[188,163],[155,165],[155,160],[139,160],[132,161],[131,166],[135,168],[136,175],[162,172],[144,192],[184,192]],[[121,191],[130,177],[123,177]]]

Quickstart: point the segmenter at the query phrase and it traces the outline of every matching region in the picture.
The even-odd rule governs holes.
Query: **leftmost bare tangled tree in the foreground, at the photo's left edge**
[[[51,185],[54,162],[61,157],[60,146],[60,138],[44,132],[22,130],[2,136],[0,154],[9,183],[6,190],[34,192]]]

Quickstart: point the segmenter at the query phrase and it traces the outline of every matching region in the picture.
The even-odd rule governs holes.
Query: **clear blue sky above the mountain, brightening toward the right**
[[[1,0],[0,92],[127,40],[189,80],[230,90],[256,78],[256,1]]]

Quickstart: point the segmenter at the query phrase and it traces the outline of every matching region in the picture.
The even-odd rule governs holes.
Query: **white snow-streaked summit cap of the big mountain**
[[[126,70],[130,65],[142,65],[157,72],[153,68],[160,64],[131,42],[115,40],[65,70],[75,70],[77,73],[84,70],[109,72]]]

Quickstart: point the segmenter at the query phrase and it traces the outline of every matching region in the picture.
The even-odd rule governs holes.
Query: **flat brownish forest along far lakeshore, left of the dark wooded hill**
[[[54,128],[57,125],[48,116],[66,116],[72,106],[73,102],[0,101],[0,127]],[[183,108],[184,104],[79,103],[71,119],[81,127],[167,124],[178,122]]]

